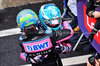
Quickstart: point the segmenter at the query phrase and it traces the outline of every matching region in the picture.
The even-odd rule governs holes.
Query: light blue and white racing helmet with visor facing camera
[[[52,3],[41,6],[39,19],[45,29],[50,27],[52,30],[58,30],[62,22],[59,8]]]

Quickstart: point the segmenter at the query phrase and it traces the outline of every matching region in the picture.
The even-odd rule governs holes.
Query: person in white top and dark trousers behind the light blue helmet
[[[74,36],[70,39],[70,41],[77,42],[82,33],[78,26],[77,20],[77,0],[68,0],[67,6],[69,7],[69,12],[71,12],[71,14],[74,16],[72,22],[69,23],[74,30]]]

